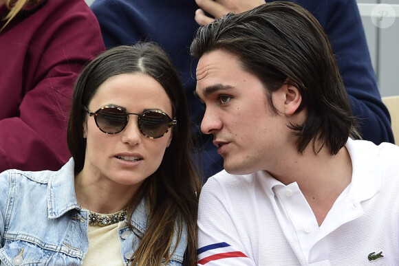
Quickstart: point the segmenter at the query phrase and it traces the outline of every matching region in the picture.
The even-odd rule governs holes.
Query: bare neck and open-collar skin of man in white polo
[[[341,148],[337,155],[330,155],[324,147],[316,155],[310,146],[302,155],[288,157],[285,163],[287,166],[281,175],[269,171],[270,174],[285,185],[296,181],[321,225],[352,180],[352,161],[347,148]]]

